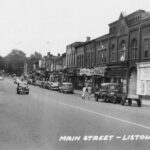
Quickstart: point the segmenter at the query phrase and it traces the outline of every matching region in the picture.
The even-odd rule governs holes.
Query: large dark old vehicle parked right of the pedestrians
[[[95,100],[102,99],[105,102],[120,103],[121,87],[117,83],[102,83],[99,91],[95,92]],[[121,97],[120,97],[121,96]]]

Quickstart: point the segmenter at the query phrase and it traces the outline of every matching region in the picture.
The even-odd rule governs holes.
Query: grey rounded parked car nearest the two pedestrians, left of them
[[[62,93],[72,93],[74,92],[73,90],[73,84],[70,82],[64,82],[59,86],[59,92]]]

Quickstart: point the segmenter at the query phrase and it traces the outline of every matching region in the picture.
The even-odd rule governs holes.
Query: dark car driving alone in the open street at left
[[[25,93],[29,94],[29,86],[27,82],[19,82],[17,85],[17,94]]]

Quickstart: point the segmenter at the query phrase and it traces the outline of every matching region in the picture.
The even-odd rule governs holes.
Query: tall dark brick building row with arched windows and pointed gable
[[[148,67],[149,62],[150,13],[144,10],[121,13],[109,24],[109,33],[66,51],[67,68],[78,68],[79,76],[91,80],[93,88],[102,82],[116,82],[129,94],[137,90],[137,67],[145,63]],[[148,87],[145,82],[140,82],[143,89]]]

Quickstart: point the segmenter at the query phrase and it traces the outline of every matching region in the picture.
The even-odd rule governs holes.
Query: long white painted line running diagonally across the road
[[[103,114],[103,113],[98,113],[98,112],[88,110],[88,109],[85,109],[85,108],[82,108],[82,107],[78,107],[78,106],[75,106],[75,105],[70,105],[70,104],[66,104],[66,103],[60,103],[60,104],[64,105],[64,106],[67,106],[67,107],[71,107],[71,108],[75,108],[75,109],[78,109],[78,110],[86,111],[86,112],[93,113],[93,114],[96,114],[96,115],[99,115],[99,116],[102,116],[102,117],[115,119],[115,120],[118,120],[118,121],[121,121],[121,122],[125,122],[125,123],[131,124],[131,125],[135,125],[135,126],[142,127],[142,128],[150,130],[149,126],[145,126],[145,125],[142,125],[142,124],[137,124],[135,122],[119,119],[119,118],[116,118],[116,117],[113,117],[113,116],[109,116],[109,115],[106,115],[106,114]]]

